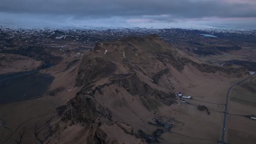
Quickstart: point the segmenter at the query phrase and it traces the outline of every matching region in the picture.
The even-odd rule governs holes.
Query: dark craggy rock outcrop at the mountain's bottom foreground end
[[[117,143],[114,140],[109,140],[108,135],[101,129],[101,118],[106,119],[104,122],[109,121],[109,124],[114,124],[110,112],[98,105],[94,99],[89,98],[89,95],[78,94],[75,98],[68,100],[67,106],[58,107],[57,110],[61,113],[65,110],[61,117],[64,126],[61,127],[60,123],[55,125],[55,135],[57,137],[67,127],[78,124],[84,127],[80,134],[86,133],[85,143]]]

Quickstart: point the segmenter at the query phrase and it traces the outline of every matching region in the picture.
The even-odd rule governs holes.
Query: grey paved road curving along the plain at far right
[[[253,74],[254,75],[254,74]],[[226,130],[226,115],[228,114],[228,100],[229,100],[229,93],[231,91],[231,89],[236,86],[236,85],[240,85],[240,83],[248,80],[249,78],[251,78],[253,75],[247,77],[246,79],[239,81],[237,83],[235,83],[234,85],[232,85],[229,90],[228,93],[226,94],[226,104],[225,104],[225,111],[224,111],[224,121],[223,121],[223,129],[222,129],[222,144],[225,143],[225,130]]]

